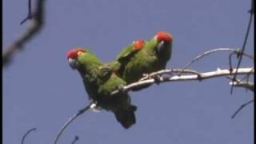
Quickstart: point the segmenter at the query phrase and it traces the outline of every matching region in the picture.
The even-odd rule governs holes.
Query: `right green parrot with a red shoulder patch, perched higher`
[[[130,47],[133,46],[131,45],[122,50],[112,66],[127,84],[137,82],[142,78],[142,74],[150,74],[166,68],[166,63],[171,57],[172,42],[171,34],[159,32],[149,42],[143,41],[138,44],[139,49],[131,49]],[[142,88],[145,87],[147,86]]]

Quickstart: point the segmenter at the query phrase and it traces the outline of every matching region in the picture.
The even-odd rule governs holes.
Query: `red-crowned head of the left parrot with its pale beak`
[[[76,49],[70,50],[67,53],[66,58],[68,59],[70,63],[70,67],[73,70],[78,69],[78,67],[80,66],[80,63],[78,62],[78,57],[81,56],[82,54],[86,54],[86,49],[76,48]]]

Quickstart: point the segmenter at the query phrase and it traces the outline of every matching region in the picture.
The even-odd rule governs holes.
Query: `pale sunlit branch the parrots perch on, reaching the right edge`
[[[252,70],[253,69],[253,70]],[[161,76],[161,74],[166,74],[167,72],[170,72],[173,74],[174,70],[161,70],[158,72],[154,72],[156,74],[159,74],[160,78],[159,78],[159,83],[162,82],[174,82],[174,81],[202,81],[204,79],[209,79],[209,78],[216,78],[216,77],[223,77],[223,76],[230,76],[230,75],[234,75],[235,70],[216,70],[216,71],[210,71],[210,72],[206,72],[206,73],[199,73],[199,74],[191,74],[191,75],[175,75],[175,76],[171,76],[169,78],[164,78]],[[175,70],[175,72],[182,73],[182,71],[185,70]],[[190,70],[188,70],[190,71]],[[238,70],[238,74],[248,74],[248,73],[252,73],[254,74],[254,68],[240,68]],[[131,83],[130,85],[127,86],[123,86],[122,90],[125,92],[128,92],[132,89],[134,89],[135,87],[138,86],[146,86],[148,84],[153,84],[155,83],[154,78],[149,78],[146,80],[142,80],[139,82],[134,82]],[[119,90],[114,90],[111,94],[118,94]]]

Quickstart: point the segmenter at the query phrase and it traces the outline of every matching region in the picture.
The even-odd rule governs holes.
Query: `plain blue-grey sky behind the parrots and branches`
[[[27,14],[27,0],[2,4],[6,48],[29,26],[29,22],[19,25]],[[174,37],[167,68],[182,68],[206,50],[241,47],[249,9],[249,0],[46,1],[42,32],[3,70],[3,143],[20,143],[33,127],[38,130],[26,138],[26,144],[53,143],[67,119],[88,105],[82,78],[66,60],[72,48],[86,47],[110,62],[134,40],[150,40],[158,31],[166,31]],[[253,31],[252,27],[246,46],[249,54],[254,52]],[[210,55],[190,69],[229,68],[228,56],[226,52]],[[242,67],[253,65],[243,58]],[[254,98],[253,93],[235,88],[231,95],[226,78],[168,82],[130,95],[138,106],[137,123],[130,129],[125,130],[110,112],[88,111],[58,143],[69,144],[75,135],[80,138],[77,144],[254,142],[254,104],[230,118],[242,103]]]

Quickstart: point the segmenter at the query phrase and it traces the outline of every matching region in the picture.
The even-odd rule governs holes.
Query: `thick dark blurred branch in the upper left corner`
[[[23,50],[26,42],[34,38],[35,34],[38,34],[42,30],[44,20],[44,5],[45,0],[38,0],[37,8],[31,19],[30,27],[26,30],[20,38],[18,38],[2,55],[2,66],[7,66],[10,61],[14,58],[14,54],[19,50]]]

